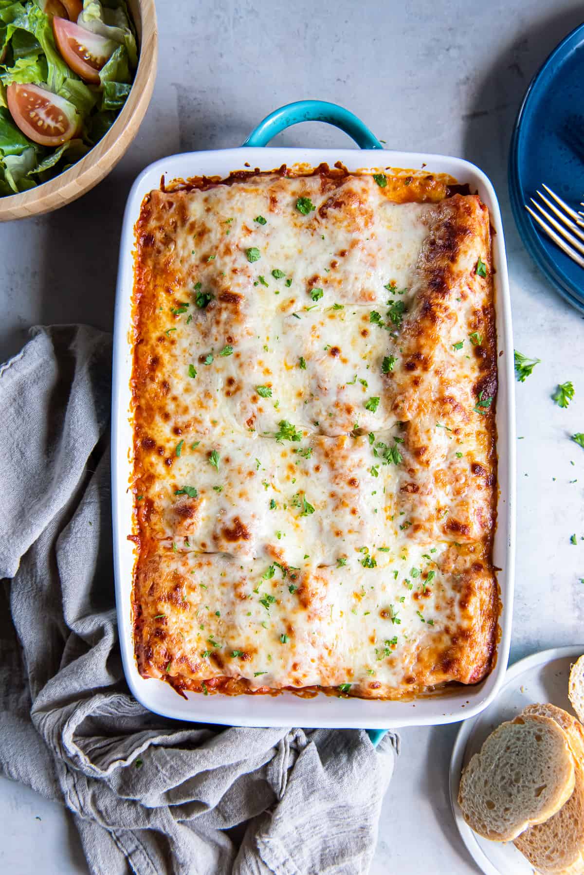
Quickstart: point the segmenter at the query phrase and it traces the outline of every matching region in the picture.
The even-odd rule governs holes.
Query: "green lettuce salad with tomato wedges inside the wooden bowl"
[[[82,158],[116,121],[136,67],[125,0],[0,0],[0,196]]]

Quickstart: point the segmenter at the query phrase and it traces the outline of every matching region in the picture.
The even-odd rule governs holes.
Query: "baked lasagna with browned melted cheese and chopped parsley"
[[[447,181],[242,172],[145,198],[138,669],[391,699],[496,652],[489,211]]]

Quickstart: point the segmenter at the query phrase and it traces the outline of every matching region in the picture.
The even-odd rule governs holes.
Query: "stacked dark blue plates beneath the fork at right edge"
[[[542,183],[584,209],[584,25],[568,34],[531,81],[509,157],[511,207],[525,247],[559,294],[584,313],[584,269],[538,229],[524,207]]]

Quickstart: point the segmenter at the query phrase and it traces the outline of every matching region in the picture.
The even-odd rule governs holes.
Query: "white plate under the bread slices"
[[[542,650],[516,662],[507,669],[495,700],[477,717],[466,720],[456,736],[450,760],[450,803],[462,841],[485,875],[533,875],[533,867],[512,842],[489,842],[470,829],[458,804],[462,769],[496,726],[517,717],[526,705],[550,702],[573,714],[567,697],[568,676],[582,654],[584,644]]]

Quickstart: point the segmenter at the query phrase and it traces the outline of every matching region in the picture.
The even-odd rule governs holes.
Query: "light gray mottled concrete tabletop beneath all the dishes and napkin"
[[[158,81],[137,140],[93,192],[39,219],[0,226],[0,357],[35,323],[111,329],[119,231],[132,180],[178,151],[241,144],[272,109],[300,98],[341,103],[388,148],[468,158],[503,207],[516,347],[543,359],[517,386],[517,589],[511,657],[584,640],[584,328],[526,255],[506,183],[512,125],[531,76],[584,19],[577,0],[158,0]],[[275,145],[338,146],[308,123]],[[549,399],[572,380],[576,398]],[[571,465],[571,460],[574,465]],[[555,477],[555,481],[552,480]],[[570,481],[577,479],[577,483]],[[447,769],[455,726],[402,733],[373,875],[478,872],[456,833]],[[38,819],[40,818],[40,819]],[[0,871],[86,872],[73,823],[31,791],[0,780]]]

